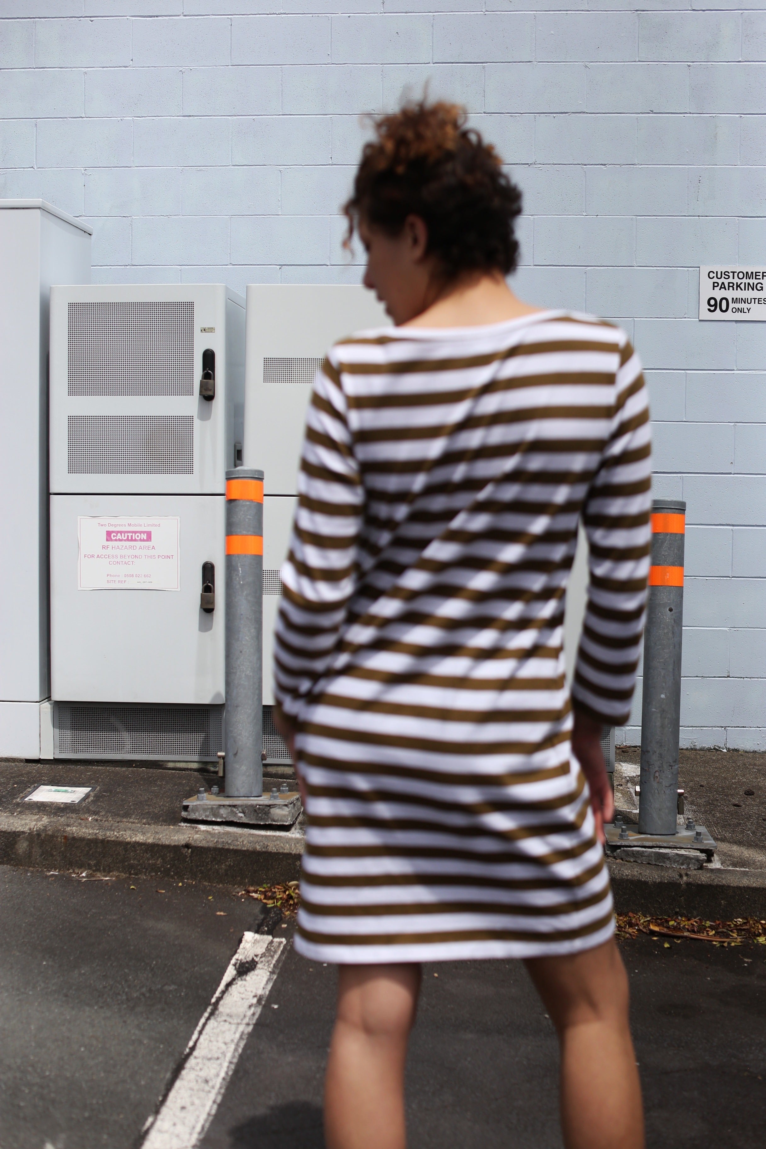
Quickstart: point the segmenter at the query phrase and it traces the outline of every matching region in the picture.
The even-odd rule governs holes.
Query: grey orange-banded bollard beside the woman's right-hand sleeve
[[[642,834],[676,831],[686,509],[681,500],[656,499],[652,503],[641,710]]]

